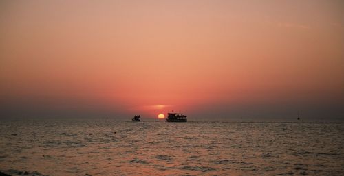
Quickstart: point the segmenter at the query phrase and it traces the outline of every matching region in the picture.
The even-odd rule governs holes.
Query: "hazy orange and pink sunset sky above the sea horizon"
[[[0,1],[1,117],[343,107],[343,1]]]

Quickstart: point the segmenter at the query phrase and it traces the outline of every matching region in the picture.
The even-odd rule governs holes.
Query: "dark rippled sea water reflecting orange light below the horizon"
[[[344,123],[1,119],[10,175],[344,175]]]

